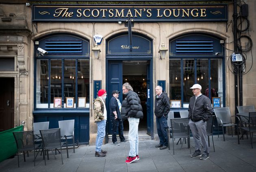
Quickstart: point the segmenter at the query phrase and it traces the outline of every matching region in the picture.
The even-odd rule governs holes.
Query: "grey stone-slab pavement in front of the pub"
[[[26,157],[20,156],[20,168],[17,164],[17,156],[0,163],[0,172],[256,172],[256,144],[251,148],[249,139],[241,140],[237,144],[237,136],[214,136],[215,152],[210,138],[210,158],[200,160],[191,158],[187,144],[180,150],[180,144],[175,144],[175,155],[172,150],[159,150],[155,145],[157,140],[139,141],[140,160],[126,164],[125,159],[129,153],[129,143],[120,143],[115,146],[108,143],[102,146],[108,151],[106,157],[95,157],[95,145],[80,146],[76,153],[69,149],[69,158],[63,149],[63,165],[61,155],[54,159],[50,153],[50,160],[44,165],[43,156],[38,156],[36,166],[33,163],[33,153]],[[178,139],[175,140],[175,143]],[[191,153],[194,152],[194,142],[191,137]]]

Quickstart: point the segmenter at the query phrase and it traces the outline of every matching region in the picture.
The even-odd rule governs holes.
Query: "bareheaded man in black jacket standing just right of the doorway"
[[[156,148],[160,150],[168,148],[168,135],[167,135],[167,118],[170,111],[170,102],[167,93],[163,92],[161,86],[156,86],[156,98],[155,98],[155,115],[156,115],[156,128],[157,134],[160,139]]]

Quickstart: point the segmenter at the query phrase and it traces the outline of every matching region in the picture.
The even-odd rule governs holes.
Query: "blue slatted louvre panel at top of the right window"
[[[213,53],[211,40],[177,40],[176,53]]]

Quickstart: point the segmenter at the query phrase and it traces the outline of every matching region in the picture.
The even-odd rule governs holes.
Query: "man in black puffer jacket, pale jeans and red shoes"
[[[129,83],[124,83],[123,93],[126,98],[124,98],[121,107],[121,115],[123,119],[129,121],[129,140],[130,140],[130,152],[129,156],[126,157],[126,163],[130,164],[133,161],[139,160],[139,119],[143,118],[141,100],[137,93],[132,89]]]

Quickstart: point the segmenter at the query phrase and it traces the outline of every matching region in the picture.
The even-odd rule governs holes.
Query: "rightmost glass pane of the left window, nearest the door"
[[[78,60],[78,98],[84,97],[86,106],[89,108],[90,93],[90,61]],[[83,107],[81,104],[79,107]]]

